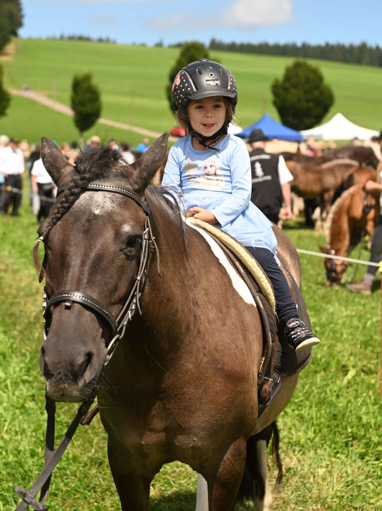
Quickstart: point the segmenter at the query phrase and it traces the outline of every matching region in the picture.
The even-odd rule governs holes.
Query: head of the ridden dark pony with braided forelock
[[[115,319],[136,282],[145,190],[162,164],[167,138],[130,166],[108,147],[80,155],[72,166],[42,139],[43,164],[62,192],[38,230],[48,299],[40,367],[53,399],[85,400],[104,365]]]

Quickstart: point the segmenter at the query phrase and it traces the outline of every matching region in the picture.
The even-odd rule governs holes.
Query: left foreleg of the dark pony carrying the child
[[[110,443],[108,457],[122,511],[148,511],[152,477],[142,475],[136,460],[124,450],[113,449]]]

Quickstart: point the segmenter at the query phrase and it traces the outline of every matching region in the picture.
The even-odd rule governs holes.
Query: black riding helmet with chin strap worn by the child
[[[219,131],[211,136],[203,137],[200,133],[194,131],[187,118],[187,104],[190,100],[198,100],[210,98],[213,96],[223,96],[232,103],[233,111],[238,101],[238,92],[235,78],[231,72],[219,64],[209,59],[200,59],[196,62],[186,65],[176,75],[171,89],[171,103],[174,111],[181,109],[187,129],[191,136],[197,138],[199,143],[206,147],[211,147],[222,134],[227,133],[227,125],[225,123]]]

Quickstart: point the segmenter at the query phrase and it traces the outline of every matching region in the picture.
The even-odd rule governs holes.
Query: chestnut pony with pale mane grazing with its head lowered
[[[351,250],[360,243],[364,231],[373,235],[379,214],[379,194],[365,193],[362,185],[346,190],[330,208],[325,223],[327,246],[320,245],[323,253],[348,257]],[[326,286],[339,286],[347,262],[341,259],[324,259]]]

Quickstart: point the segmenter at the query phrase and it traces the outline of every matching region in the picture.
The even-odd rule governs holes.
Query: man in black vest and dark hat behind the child
[[[292,218],[291,185],[293,176],[289,172],[283,156],[265,152],[265,141],[268,137],[261,129],[251,131],[248,143],[251,146],[252,194],[251,201],[256,204],[264,215],[273,223],[279,218]],[[280,210],[285,207],[280,215]]]

